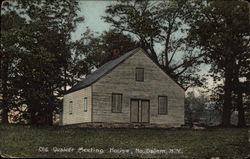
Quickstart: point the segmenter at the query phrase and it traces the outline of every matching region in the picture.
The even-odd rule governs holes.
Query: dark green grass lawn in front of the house
[[[219,156],[220,159],[243,159],[250,152],[248,137],[248,129],[238,128],[86,129],[0,124],[0,154],[12,157],[206,159]],[[65,148],[64,151],[71,148],[72,152],[54,152],[60,148]],[[116,152],[118,149],[129,151],[121,150],[123,153],[119,154],[114,153],[114,149],[110,152],[110,148]],[[92,152],[83,152],[84,149]],[[99,151],[101,149],[104,153]]]

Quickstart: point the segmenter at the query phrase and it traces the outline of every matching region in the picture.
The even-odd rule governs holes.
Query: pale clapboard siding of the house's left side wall
[[[63,99],[63,125],[91,122],[92,107],[91,86],[69,93]],[[87,97],[87,112],[84,112],[83,101]],[[69,114],[69,102],[73,101],[73,111]]]

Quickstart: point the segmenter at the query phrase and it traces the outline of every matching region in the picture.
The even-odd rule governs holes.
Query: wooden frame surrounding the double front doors
[[[132,104],[132,100],[135,100],[135,101],[138,101],[138,122],[131,122],[131,104]],[[139,113],[141,115],[141,120],[142,120],[142,108],[140,109],[141,107],[141,103],[142,101],[148,101],[148,122],[141,122],[139,120]],[[141,110],[141,111],[139,111]],[[143,98],[130,98],[130,123],[150,123],[150,100],[149,99],[143,99]]]

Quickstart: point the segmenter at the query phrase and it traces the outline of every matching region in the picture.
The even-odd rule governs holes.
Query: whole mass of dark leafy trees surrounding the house
[[[3,123],[14,111],[16,122],[52,124],[68,87],[107,61],[142,47],[186,90],[204,86],[200,66],[211,66],[211,78],[222,81],[212,90],[222,125],[230,126],[233,110],[239,112],[238,126],[246,125],[247,1],[119,1],[107,6],[102,17],[110,30],[95,34],[88,28],[76,41],[71,33],[84,23],[76,0],[5,1],[1,10]]]

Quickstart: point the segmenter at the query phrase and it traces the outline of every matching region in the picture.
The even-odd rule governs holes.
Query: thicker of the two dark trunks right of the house
[[[233,70],[230,66],[225,69],[225,84],[224,84],[224,103],[222,112],[222,126],[230,126],[230,117],[232,109],[232,91],[233,91]]]

